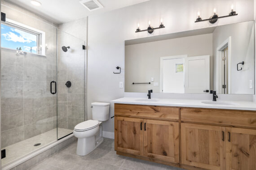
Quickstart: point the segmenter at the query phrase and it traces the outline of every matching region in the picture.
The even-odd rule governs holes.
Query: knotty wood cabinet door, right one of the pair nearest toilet
[[[179,123],[144,119],[144,156],[179,162]]]

